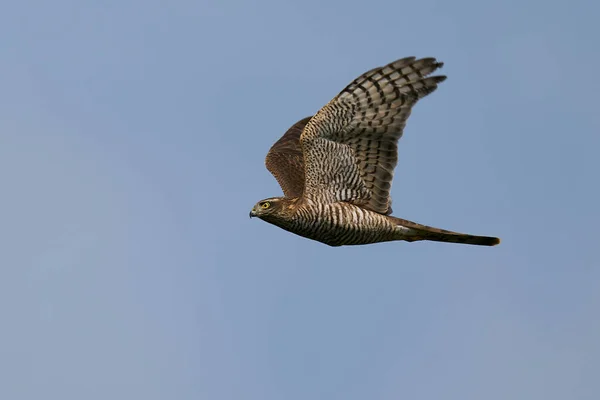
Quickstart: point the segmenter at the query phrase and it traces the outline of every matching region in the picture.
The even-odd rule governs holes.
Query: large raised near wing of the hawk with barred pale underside
[[[372,69],[319,110],[300,137],[304,196],[391,213],[398,139],[412,107],[446,79],[428,77],[442,65],[408,57]]]

